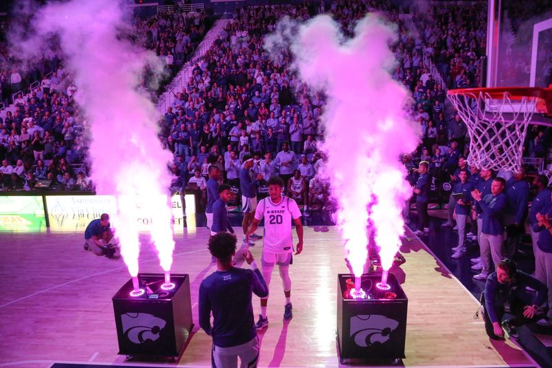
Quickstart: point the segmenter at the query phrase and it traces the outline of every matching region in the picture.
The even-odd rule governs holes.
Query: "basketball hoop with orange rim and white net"
[[[447,95],[468,128],[468,162],[480,170],[519,172],[531,117],[552,113],[552,88],[464,88]]]

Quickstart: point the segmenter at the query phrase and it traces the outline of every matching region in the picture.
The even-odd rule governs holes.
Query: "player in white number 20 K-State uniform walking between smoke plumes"
[[[264,241],[261,257],[263,278],[266,286],[270,287],[270,278],[274,265],[278,265],[280,278],[284,285],[284,296],[286,304],[284,305],[284,320],[290,320],[293,317],[291,307],[291,280],[289,278],[289,265],[293,262],[293,238],[291,236],[291,220],[295,223],[297,231],[297,251],[299,254],[303,251],[303,224],[301,223],[301,212],[294,200],[282,196],[284,182],[279,177],[273,177],[268,180],[268,197],[259,201],[255,211],[255,219],[249,229],[246,240],[253,234],[264,217]],[[261,299],[261,314],[256,323],[257,329],[268,326],[266,317],[266,305],[268,298]]]

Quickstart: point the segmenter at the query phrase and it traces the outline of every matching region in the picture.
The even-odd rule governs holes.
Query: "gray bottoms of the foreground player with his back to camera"
[[[213,344],[211,365],[213,368],[237,368],[239,358],[240,368],[255,368],[259,362],[259,338],[235,347],[217,347]]]

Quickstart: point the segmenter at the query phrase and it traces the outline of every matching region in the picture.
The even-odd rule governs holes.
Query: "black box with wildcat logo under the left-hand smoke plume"
[[[146,293],[130,296],[132,279],[113,296],[119,354],[179,356],[193,327],[188,275],[171,274],[175,288],[161,289],[163,274],[139,273]]]

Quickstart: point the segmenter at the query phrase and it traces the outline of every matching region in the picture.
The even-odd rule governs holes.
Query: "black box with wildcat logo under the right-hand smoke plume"
[[[371,299],[348,296],[346,280],[351,274],[337,275],[337,345],[342,362],[347,360],[397,360],[404,358],[406,309],[408,299],[392,273],[388,291],[376,284],[381,273],[362,275],[362,289]]]

